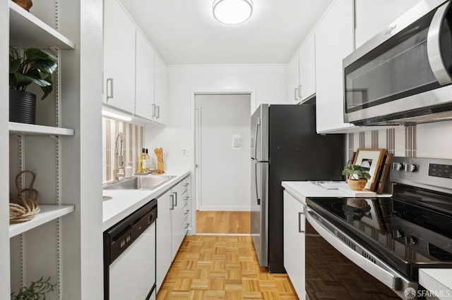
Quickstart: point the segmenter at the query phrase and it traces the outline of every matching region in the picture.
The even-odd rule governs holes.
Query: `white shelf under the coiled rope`
[[[9,225],[9,237],[15,237],[44,223],[74,211],[73,205],[40,205],[41,211],[30,221]]]

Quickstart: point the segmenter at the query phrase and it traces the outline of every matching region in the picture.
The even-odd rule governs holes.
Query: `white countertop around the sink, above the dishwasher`
[[[176,175],[165,182],[164,185],[160,185],[156,189],[144,190],[131,190],[131,189],[104,189],[102,190],[102,196],[111,196],[112,199],[102,202],[102,222],[103,230],[107,230],[120,220],[126,218],[141,206],[147,204],[152,199],[159,197],[167,192],[168,189],[176,185],[183,180],[190,171],[165,173],[165,175]]]

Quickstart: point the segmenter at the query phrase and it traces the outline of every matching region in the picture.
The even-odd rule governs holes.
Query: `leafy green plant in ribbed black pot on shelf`
[[[25,90],[35,83],[44,92],[45,99],[52,92],[52,74],[57,70],[54,58],[45,52],[30,48],[22,51],[9,47],[9,120],[35,124],[36,95]]]

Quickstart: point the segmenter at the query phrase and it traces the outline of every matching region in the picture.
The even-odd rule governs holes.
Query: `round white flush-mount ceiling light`
[[[248,20],[253,13],[252,0],[215,0],[213,16],[221,23],[234,25]]]

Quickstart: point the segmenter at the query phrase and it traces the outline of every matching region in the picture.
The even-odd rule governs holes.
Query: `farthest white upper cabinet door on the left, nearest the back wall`
[[[168,71],[160,56],[155,56],[155,99],[154,117],[157,123],[167,123]]]

